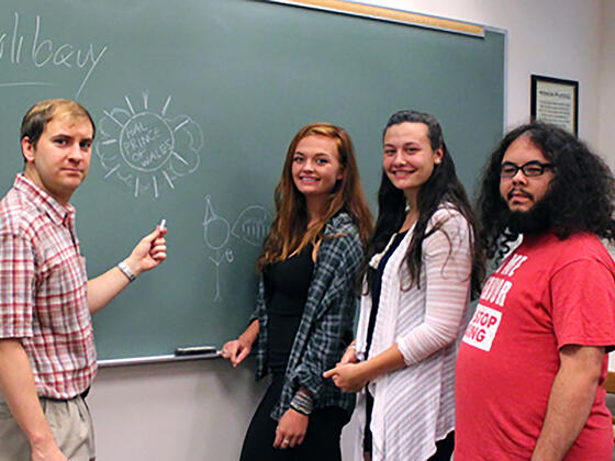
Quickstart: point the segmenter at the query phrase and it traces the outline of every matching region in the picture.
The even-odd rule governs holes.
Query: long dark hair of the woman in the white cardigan
[[[446,144],[444,135],[437,119],[431,114],[416,111],[400,111],[391,115],[387,126],[382,133],[382,137],[387,134],[387,130],[393,125],[401,123],[423,123],[427,126],[427,136],[432,149],[435,151],[441,147],[443,158],[439,165],[434,167],[434,171],[429,179],[421,185],[416,204],[418,207],[418,220],[414,226],[412,240],[407,248],[405,260],[411,276],[409,286],[402,286],[407,290],[414,283],[421,285],[421,265],[423,260],[423,240],[435,232],[445,232],[441,226],[444,223],[436,223],[427,229],[427,223],[443,203],[455,207],[468,222],[471,229],[472,239],[470,241],[472,252],[472,273],[471,273],[471,294],[472,299],[480,295],[481,283],[484,277],[484,257],[481,250],[482,246],[478,240],[480,233],[477,227],[477,220],[468,195],[463,185],[457,178],[455,164]],[[376,254],[384,250],[391,236],[399,232],[406,215],[406,200],[403,190],[395,188],[387,173],[382,171],[380,189],[378,190],[378,220],[376,222],[376,231],[369,240],[367,247],[367,257],[364,265],[362,274],[367,279],[368,293],[373,288],[373,276],[376,270],[369,267],[369,260]],[[447,236],[448,237],[448,236]],[[448,238],[450,241],[450,238]],[[452,249],[449,249],[449,252]]]

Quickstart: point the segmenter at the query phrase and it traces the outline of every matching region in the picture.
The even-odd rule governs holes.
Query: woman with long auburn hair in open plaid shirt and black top
[[[241,460],[337,461],[355,396],[322,373],[353,339],[355,280],[371,232],[348,134],[328,123],[301,128],[275,200],[257,261],[256,310],[248,328],[222,348],[236,367],[256,346],[257,379],[272,376]]]

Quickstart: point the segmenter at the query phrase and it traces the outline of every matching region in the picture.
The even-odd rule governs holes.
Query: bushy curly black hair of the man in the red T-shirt
[[[533,122],[504,136],[482,173],[477,209],[487,257],[502,259],[511,243],[518,238],[518,234],[507,227],[511,212],[500,195],[500,168],[506,149],[521,136],[527,136],[554,165],[555,176],[545,195],[551,231],[560,239],[574,233],[591,232],[614,240],[615,182],[610,168],[570,133]]]

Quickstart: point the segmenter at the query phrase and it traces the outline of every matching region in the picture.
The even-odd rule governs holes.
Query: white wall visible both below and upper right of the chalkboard
[[[600,142],[615,158],[615,130],[611,127],[615,115],[612,0],[371,3],[507,30],[508,126],[528,120],[530,74],[578,80],[580,136],[594,146]],[[605,31],[602,37],[601,27]],[[236,460],[249,417],[264,391],[262,385],[254,383],[251,371],[249,367],[232,370],[220,360],[100,370],[89,397],[98,459]]]

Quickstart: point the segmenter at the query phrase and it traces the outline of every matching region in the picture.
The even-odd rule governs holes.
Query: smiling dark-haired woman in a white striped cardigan
[[[356,460],[448,461],[455,360],[484,274],[478,232],[433,115],[393,114],[382,165],[357,339],[324,375],[360,391]]]

